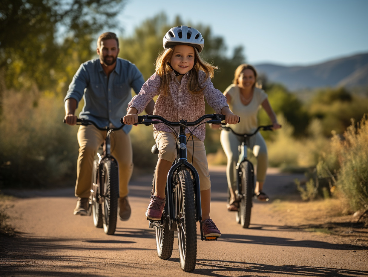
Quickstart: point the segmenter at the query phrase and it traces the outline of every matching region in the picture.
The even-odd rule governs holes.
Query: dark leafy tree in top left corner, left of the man
[[[1,1],[0,100],[4,89],[43,91],[63,82],[67,54],[77,50],[76,56],[91,57],[91,42],[102,28],[116,27],[124,4],[125,0]]]

